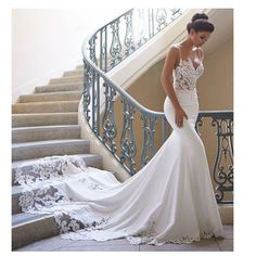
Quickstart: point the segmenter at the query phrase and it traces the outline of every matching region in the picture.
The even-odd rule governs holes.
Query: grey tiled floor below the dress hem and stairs
[[[30,252],[233,252],[233,226],[225,226],[225,239],[210,239],[194,242],[192,244],[164,244],[162,246],[154,245],[132,245],[127,240],[112,240],[106,242],[97,241],[69,241],[62,240],[60,236],[41,240],[39,242],[29,244],[15,252],[30,251]]]

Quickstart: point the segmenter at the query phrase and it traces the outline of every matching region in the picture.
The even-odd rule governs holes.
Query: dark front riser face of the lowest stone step
[[[12,228],[12,249],[60,234],[53,216]]]

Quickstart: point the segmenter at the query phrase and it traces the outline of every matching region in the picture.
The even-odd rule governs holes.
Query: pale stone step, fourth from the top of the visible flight
[[[36,93],[56,91],[81,91],[82,82],[69,82],[63,85],[40,86],[35,88]]]

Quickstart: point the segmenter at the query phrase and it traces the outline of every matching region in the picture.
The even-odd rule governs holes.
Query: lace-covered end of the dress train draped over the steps
[[[30,214],[53,213],[60,233],[78,230],[99,230],[108,223],[111,216],[95,216],[87,212],[86,205],[76,204],[57,188],[63,176],[76,177],[89,190],[104,188],[90,177],[87,164],[80,156],[52,156],[36,161],[33,165],[14,168],[14,183],[23,189],[18,196],[22,212]],[[79,175],[87,172],[85,177]],[[79,218],[80,217],[80,218]]]

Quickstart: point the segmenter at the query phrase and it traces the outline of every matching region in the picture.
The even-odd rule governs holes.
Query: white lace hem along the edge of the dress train
[[[126,238],[131,244],[162,245],[165,243],[192,243],[200,241],[201,238],[208,239],[214,235],[212,232],[204,231],[194,238],[185,235],[158,242],[155,231],[155,218],[145,225],[145,230],[141,230],[136,234],[132,233],[132,235],[126,229],[118,232],[104,230],[104,227],[110,223],[112,216],[98,216],[93,210],[91,212],[86,202],[73,201],[73,194],[69,193],[68,187],[65,187],[62,177],[75,177],[76,185],[79,187],[81,184],[82,188],[88,189],[86,193],[90,193],[91,190],[104,192],[102,191],[104,185],[101,180],[98,180],[97,176],[90,176],[90,170],[82,163],[84,159],[81,157],[52,157],[54,158],[53,162],[49,158],[35,164],[34,168],[29,170],[25,167],[17,169],[16,182],[24,189],[18,197],[18,205],[26,213],[53,213],[63,239],[107,241]],[[95,171],[92,172],[94,174]],[[111,183],[113,183],[113,175],[110,172],[107,175]],[[106,182],[110,180],[105,179]],[[39,181],[40,184],[38,183]]]

